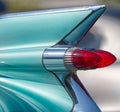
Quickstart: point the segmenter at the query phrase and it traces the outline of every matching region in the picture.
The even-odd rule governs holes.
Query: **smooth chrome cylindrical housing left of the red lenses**
[[[65,53],[68,49],[68,46],[57,46],[46,49],[43,54],[45,68],[55,73],[68,71],[64,64]]]

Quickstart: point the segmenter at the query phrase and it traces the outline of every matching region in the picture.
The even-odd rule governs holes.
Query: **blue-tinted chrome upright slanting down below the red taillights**
[[[81,85],[79,84],[79,79],[76,80],[73,77],[78,79],[76,74],[70,74],[66,79],[67,88],[69,89],[75,103],[73,112],[101,112],[99,107],[86,92],[85,88],[82,87],[82,83],[80,82]]]

